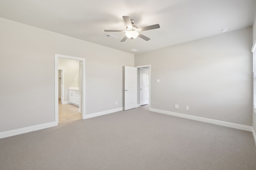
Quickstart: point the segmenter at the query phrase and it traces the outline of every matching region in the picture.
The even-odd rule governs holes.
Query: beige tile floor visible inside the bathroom
[[[60,104],[59,99],[59,123],[66,123],[82,119],[82,114],[78,112],[79,107],[74,104]]]

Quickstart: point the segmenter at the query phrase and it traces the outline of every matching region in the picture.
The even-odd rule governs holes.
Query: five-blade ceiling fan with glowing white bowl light
[[[105,32],[125,32],[125,37],[121,40],[121,42],[126,41],[126,39],[134,39],[136,37],[140,37],[146,41],[150,40],[150,38],[146,37],[145,35],[142,35],[141,31],[146,31],[150,29],[157,29],[160,28],[159,24],[150,25],[146,27],[138,28],[136,25],[133,25],[135,20],[131,20],[128,16],[123,16],[124,22],[126,23],[127,27],[126,30],[104,30]]]

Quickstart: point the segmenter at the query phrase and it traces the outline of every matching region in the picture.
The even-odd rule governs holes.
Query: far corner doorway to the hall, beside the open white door
[[[151,64],[135,67],[138,73],[137,107],[149,110],[151,108]]]

